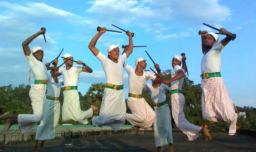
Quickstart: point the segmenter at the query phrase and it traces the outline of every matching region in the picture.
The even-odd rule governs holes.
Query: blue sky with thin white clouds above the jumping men
[[[212,31],[202,23],[217,28],[224,27],[235,33],[222,52],[221,73],[229,94],[237,106],[254,106],[255,88],[255,41],[256,18],[255,1],[228,0],[92,0],[92,1],[23,1],[0,2],[0,85],[27,84],[29,66],[22,51],[21,43],[41,27],[46,28],[43,36],[31,44],[45,50],[43,62],[53,60],[62,48],[73,55],[74,60],[82,60],[93,69],[93,73],[80,74],[78,90],[85,94],[91,83],[106,82],[99,60],[88,49],[89,41],[97,33],[97,26],[118,30],[114,24],[134,32],[134,48],[127,63],[135,66],[138,57],[153,63],[145,54],[145,49],[160,65],[162,70],[171,68],[173,55],[186,54],[189,79],[200,83],[201,38],[199,30]],[[224,36],[221,35],[220,39]],[[125,33],[106,32],[96,47],[107,55],[107,46],[128,44]],[[60,64],[62,61],[59,62]],[[33,83],[34,78],[31,78]],[[128,95],[128,75],[124,72],[124,91]]]

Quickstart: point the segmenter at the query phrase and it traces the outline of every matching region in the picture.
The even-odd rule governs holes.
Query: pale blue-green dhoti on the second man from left
[[[50,140],[55,138],[55,129],[60,119],[60,101],[49,100],[45,101],[43,111],[43,120],[36,131],[36,140]]]

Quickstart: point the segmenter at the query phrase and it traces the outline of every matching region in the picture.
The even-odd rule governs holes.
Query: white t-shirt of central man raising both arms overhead
[[[101,52],[96,56],[101,61],[106,74],[107,83],[123,85],[123,65],[126,60],[126,53],[118,57],[118,63],[114,63]]]

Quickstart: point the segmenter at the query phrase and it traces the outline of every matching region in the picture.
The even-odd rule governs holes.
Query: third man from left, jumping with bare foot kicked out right
[[[81,124],[87,124],[87,119],[92,117],[93,112],[98,112],[98,108],[91,105],[91,108],[87,111],[81,111],[77,84],[79,74],[81,72],[92,73],[92,69],[80,60],[77,61],[77,64],[82,64],[84,67],[73,66],[73,56],[71,54],[65,54],[63,57],[66,67],[52,74],[53,77],[61,74],[64,77],[62,120],[72,119]]]

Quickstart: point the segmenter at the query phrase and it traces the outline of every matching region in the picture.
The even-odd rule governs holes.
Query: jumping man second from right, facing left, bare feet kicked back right
[[[208,133],[208,129],[205,127],[196,126],[188,122],[185,118],[183,111],[185,105],[185,97],[182,94],[182,85],[187,71],[185,65],[185,56],[182,58],[179,55],[173,56],[171,64],[173,66],[173,72],[171,73],[171,78],[169,80],[164,80],[164,84],[171,83],[171,112],[173,114],[173,119],[175,125],[188,136],[189,141],[196,140],[200,133],[205,137],[205,140],[211,140],[211,136]],[[181,62],[183,62],[183,68],[180,67]]]

